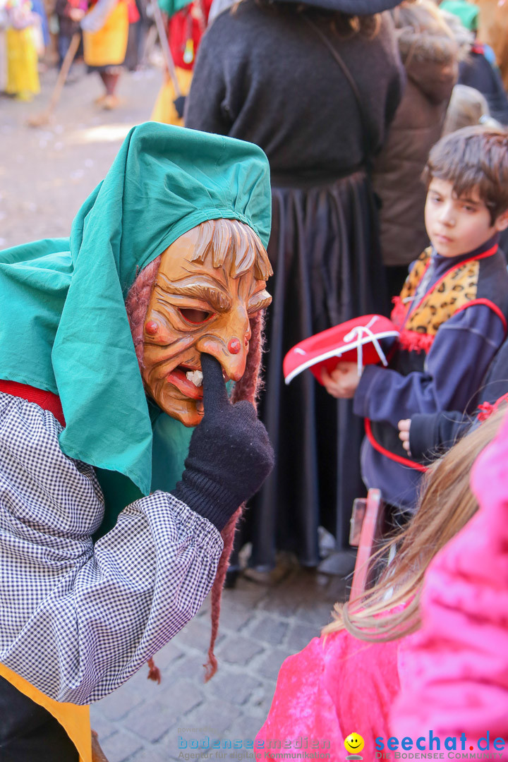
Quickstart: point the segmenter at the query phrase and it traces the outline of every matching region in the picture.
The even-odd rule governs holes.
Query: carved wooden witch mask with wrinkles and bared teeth
[[[237,220],[203,223],[162,253],[145,317],[142,376],[172,418],[200,422],[202,352],[219,360],[226,380],[241,379],[249,319],[271,302],[271,274],[260,239]]]

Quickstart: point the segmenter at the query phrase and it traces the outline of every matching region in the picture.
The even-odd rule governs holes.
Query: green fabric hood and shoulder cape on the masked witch
[[[266,246],[270,208],[268,162],[257,146],[145,123],[126,137],[70,239],[0,251],[0,378],[59,395],[65,454],[125,475],[144,495],[174,485],[183,457],[171,478],[165,463],[191,432],[149,409],[127,292],[145,265],[207,219],[239,219]]]

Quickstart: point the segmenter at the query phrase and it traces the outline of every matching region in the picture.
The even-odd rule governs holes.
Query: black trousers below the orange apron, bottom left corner
[[[0,760],[78,762],[79,754],[62,725],[8,680],[0,677]]]

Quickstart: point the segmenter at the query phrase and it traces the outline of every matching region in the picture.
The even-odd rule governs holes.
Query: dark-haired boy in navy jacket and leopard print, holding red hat
[[[508,227],[508,133],[465,127],[430,152],[425,224],[431,246],[411,267],[391,319],[401,329],[388,368],[338,363],[322,380],[353,398],[366,422],[363,479],[411,511],[426,470],[398,437],[417,413],[471,412],[487,367],[506,338],[508,273],[498,248]]]

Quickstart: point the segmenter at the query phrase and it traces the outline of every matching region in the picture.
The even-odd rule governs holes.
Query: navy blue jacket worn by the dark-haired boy
[[[459,261],[487,251],[492,240],[480,249],[455,258],[433,253],[433,274],[427,290]],[[501,251],[497,285],[508,274]],[[437,414],[455,410],[471,413],[477,405],[478,390],[487,368],[505,338],[505,325],[499,315],[484,304],[473,304],[447,320],[437,331],[425,358],[423,372],[398,373],[390,367],[367,366],[353,399],[356,415],[380,421],[397,430],[401,418],[417,414]],[[413,451],[411,454],[414,456]],[[415,456],[414,456],[415,457]],[[367,487],[381,489],[388,503],[403,510],[412,510],[422,472],[391,459],[366,438],[361,454],[362,475]]]

